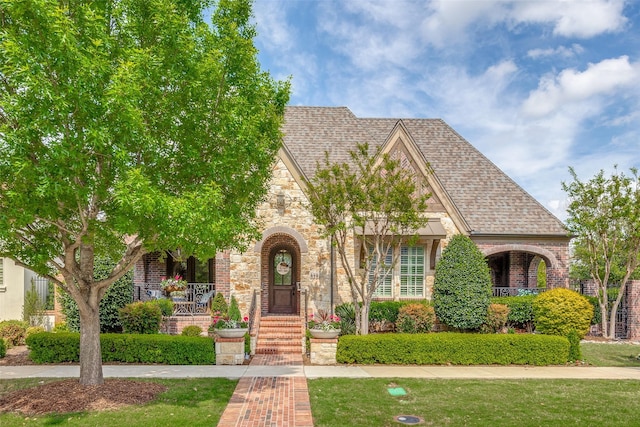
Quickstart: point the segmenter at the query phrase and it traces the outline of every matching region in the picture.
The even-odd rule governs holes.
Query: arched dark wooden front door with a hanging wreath
[[[288,249],[274,251],[270,262],[269,312],[293,314],[298,311],[296,260]]]

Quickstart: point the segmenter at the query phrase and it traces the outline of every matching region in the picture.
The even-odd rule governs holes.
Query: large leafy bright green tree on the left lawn
[[[250,0],[209,7],[0,0],[0,256],[77,302],[82,384],[103,382],[100,300],[143,254],[255,233],[288,83],[260,70]]]

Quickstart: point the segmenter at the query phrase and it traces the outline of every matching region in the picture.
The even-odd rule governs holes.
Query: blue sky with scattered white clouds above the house
[[[640,166],[640,2],[255,0],[291,105],[442,118],[565,219],[561,182]]]

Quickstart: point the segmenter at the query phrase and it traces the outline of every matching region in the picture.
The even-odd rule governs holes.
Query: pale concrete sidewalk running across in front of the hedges
[[[630,379],[640,368],[581,366],[167,366],[104,365],[105,378],[429,378],[429,379]],[[77,365],[0,366],[0,379],[78,377]]]

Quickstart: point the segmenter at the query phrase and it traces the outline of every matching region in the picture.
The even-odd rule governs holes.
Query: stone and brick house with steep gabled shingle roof
[[[418,245],[400,248],[411,255],[403,262],[418,263],[424,275],[401,286],[400,269],[395,269],[393,279],[378,290],[380,299],[431,298],[436,262],[456,233],[470,236],[487,257],[496,294],[537,290],[543,260],[547,286],[568,286],[569,237],[562,222],[444,121],[359,118],[344,107],[288,107],[283,133],[270,190],[258,207],[262,238],[244,253],[191,258],[179,265],[148,254],[134,274],[141,298],[157,288],[161,276],[181,272],[189,282],[235,295],[243,313],[263,319],[330,310],[350,301],[330,242],[306,208],[303,178],[314,175],[325,152],[332,161],[346,161],[349,150],[363,142],[397,151],[404,167],[426,176],[432,193],[430,221],[420,230]]]

